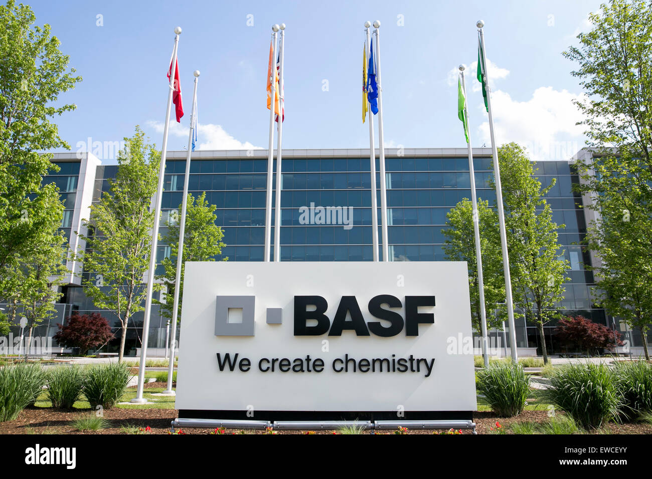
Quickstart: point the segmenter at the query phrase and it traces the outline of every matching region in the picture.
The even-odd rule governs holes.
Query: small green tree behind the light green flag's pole
[[[481,331],[478,267],[475,258],[475,235],[473,233],[473,205],[462,199],[447,214],[446,237],[443,250],[451,261],[466,261],[469,269],[469,293],[471,295],[471,324]],[[482,251],[482,280],[487,328],[502,328],[507,308],[505,306],[505,279],[503,255],[500,248],[498,214],[489,207],[488,201],[478,201],[480,244]],[[496,315],[496,312],[498,314]]]

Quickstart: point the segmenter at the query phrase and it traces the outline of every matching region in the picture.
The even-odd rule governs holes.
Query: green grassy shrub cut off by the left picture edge
[[[0,422],[16,419],[18,413],[35,403],[46,384],[38,364],[16,364],[0,369]]]

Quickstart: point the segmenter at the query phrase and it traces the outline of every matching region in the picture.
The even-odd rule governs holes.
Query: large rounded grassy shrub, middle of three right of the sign
[[[566,411],[582,428],[599,428],[615,418],[620,396],[604,364],[571,364],[550,377],[543,398]]]

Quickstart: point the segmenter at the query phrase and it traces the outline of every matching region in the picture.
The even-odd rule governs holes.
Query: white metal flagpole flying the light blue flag
[[[200,80],[200,70],[193,72],[195,86],[192,91],[192,109],[190,110],[190,134],[188,134],[188,152],[186,154],[186,175],[183,180],[183,199],[181,200],[181,218],[179,218],[179,248],[177,248],[177,276],[174,280],[174,302],[172,309],[172,337],[170,341],[170,363],[168,364],[168,388],[162,394],[173,396],[172,372],[174,369],[174,347],[177,342],[177,316],[179,315],[179,294],[181,293],[181,268],[183,267],[183,240],[186,234],[186,207],[188,205],[188,181],[190,179],[190,155],[192,153],[192,137],[197,115],[197,83]]]

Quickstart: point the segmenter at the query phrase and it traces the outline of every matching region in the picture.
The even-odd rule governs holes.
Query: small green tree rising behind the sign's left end
[[[181,318],[181,299],[183,298],[183,275],[186,261],[215,261],[215,255],[222,254],[226,246],[222,242],[224,232],[215,225],[217,218],[215,205],[206,201],[206,192],[195,198],[188,194],[186,203],[186,224],[183,236],[183,262],[181,263],[181,289],[179,290],[179,309],[177,318]],[[181,205],[179,210],[181,211]],[[161,305],[162,313],[169,319],[172,318],[174,308],[174,287],[177,278],[176,258],[179,254],[179,213],[173,211],[168,220],[168,233],[164,237],[164,244],[170,245],[170,256],[161,261],[165,272],[157,276],[162,280],[167,290],[163,293],[165,302],[156,301]],[[173,261],[173,259],[175,261]],[[224,258],[226,261],[228,258]]]

